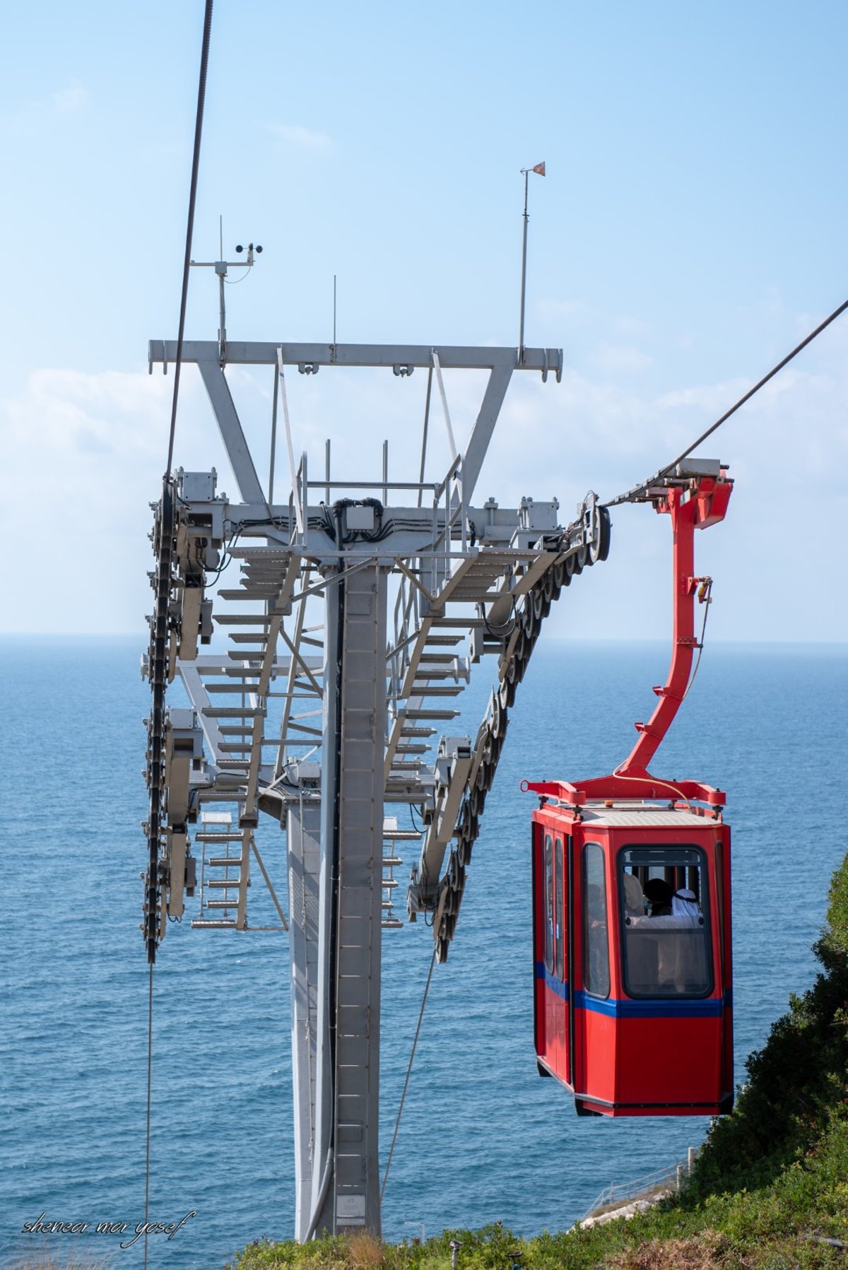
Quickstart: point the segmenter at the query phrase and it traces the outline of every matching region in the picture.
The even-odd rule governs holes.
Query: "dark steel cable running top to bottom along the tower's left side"
[[[159,525],[159,559],[156,569],[156,610],[151,640],[150,679],[151,679],[151,716],[150,716],[150,820],[149,833],[149,865],[146,886],[146,913],[145,936],[147,944],[147,961],[150,965],[150,980],[147,989],[147,1126],[146,1126],[146,1161],[145,1161],[145,1270],[147,1270],[147,1240],[150,1226],[150,1120],[151,1120],[151,1090],[152,1090],[152,1039],[154,1039],[154,963],[156,960],[157,923],[159,923],[159,846],[161,833],[161,766],[165,734],[165,690],[166,690],[166,658],[168,658],[168,618],[171,589],[171,558],[174,541],[174,489],[171,479],[171,465],[174,460],[174,436],[176,432],[176,403],[179,398],[180,366],[183,361],[183,340],[185,334],[185,310],[188,305],[188,278],[189,262],[192,257],[192,236],[194,230],[194,207],[197,203],[197,178],[201,161],[201,136],[203,132],[203,104],[206,100],[206,77],[209,60],[209,36],[212,30],[212,3],[206,0],[203,18],[203,42],[201,47],[201,74],[197,90],[197,114],[194,121],[194,151],[192,155],[192,179],[188,201],[188,225],[185,230],[185,259],[183,264],[183,287],[180,293],[179,333],[176,339],[176,364],[174,367],[174,394],[171,400],[171,418],[168,436],[168,462],[162,476],[162,502]]]

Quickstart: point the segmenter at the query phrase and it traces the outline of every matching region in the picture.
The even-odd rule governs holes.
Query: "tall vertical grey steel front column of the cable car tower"
[[[319,1149],[310,1224],[334,1234],[366,1228],[378,1237],[386,570],[345,575],[340,615],[338,605],[336,584],[326,621]]]

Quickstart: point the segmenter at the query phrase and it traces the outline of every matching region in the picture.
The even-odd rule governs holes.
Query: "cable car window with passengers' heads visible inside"
[[[707,862],[697,847],[626,847],[618,855],[625,991],[630,997],[712,992]]]

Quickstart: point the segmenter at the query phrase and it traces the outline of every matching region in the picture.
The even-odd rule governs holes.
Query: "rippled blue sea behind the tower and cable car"
[[[4,639],[4,1005],[0,1264],[37,1246],[142,1264],[147,966],[142,640]],[[583,1120],[536,1073],[528,779],[602,775],[663,681],[663,645],[540,644],[486,803],[451,956],[437,966],[383,1205],[387,1238],[501,1219],[561,1229],[602,1186],[697,1146],[696,1119]],[[490,667],[475,668],[476,729]],[[736,1078],[790,992],[848,842],[845,646],[710,645],[654,767],[729,792],[734,831]],[[402,813],[401,813],[402,814]],[[284,893],[284,837],[260,847]],[[401,852],[402,855],[402,852]],[[432,951],[423,922],[385,932],[382,1157]],[[221,1266],[292,1233],[286,937],[171,926],[155,973],[150,1265]],[[47,1222],[85,1234],[41,1241]],[[94,1234],[98,1222],[124,1234]]]

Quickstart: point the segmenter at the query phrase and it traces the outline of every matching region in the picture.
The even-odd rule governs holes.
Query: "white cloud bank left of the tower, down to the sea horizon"
[[[0,401],[5,630],[143,629],[171,387],[173,376],[42,370]],[[192,375],[180,403],[178,456],[198,439]]]

